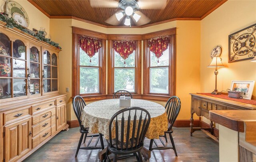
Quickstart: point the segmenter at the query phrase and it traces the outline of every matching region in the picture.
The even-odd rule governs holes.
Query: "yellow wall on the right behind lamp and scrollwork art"
[[[217,89],[230,88],[232,80],[256,80],[256,63],[250,60],[228,63],[228,35],[256,23],[255,0],[229,0],[201,20],[201,92],[214,90],[214,68],[210,64],[210,53],[214,47],[222,47],[222,63],[218,74]],[[178,44],[178,43],[177,43]],[[253,95],[256,96],[256,85]]]

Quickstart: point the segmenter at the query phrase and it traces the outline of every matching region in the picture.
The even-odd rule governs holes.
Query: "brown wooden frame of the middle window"
[[[141,94],[141,35],[119,35],[110,34],[108,35],[108,94],[114,94],[114,49],[113,41],[115,40],[132,40],[137,41],[137,48],[135,51],[135,81],[134,81],[134,92],[132,94]],[[119,68],[119,67],[118,67]],[[130,67],[124,67],[130,69]]]

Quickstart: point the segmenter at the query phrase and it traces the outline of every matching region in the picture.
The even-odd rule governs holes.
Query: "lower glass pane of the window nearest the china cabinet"
[[[99,93],[99,68],[80,67],[80,93]]]

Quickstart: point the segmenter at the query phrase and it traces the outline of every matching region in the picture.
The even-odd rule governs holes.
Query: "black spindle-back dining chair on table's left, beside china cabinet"
[[[76,96],[76,97],[74,97],[74,99],[72,101],[72,105],[73,105],[74,112],[76,114],[77,120],[78,120],[79,125],[80,125],[80,133],[81,133],[75,157],[77,156],[79,149],[84,149],[84,150],[102,149],[103,150],[104,149],[104,144],[103,144],[102,134],[94,134],[94,135],[87,136],[88,128],[85,128],[84,125],[82,125],[81,115],[82,115],[84,107],[86,106],[86,103],[85,103],[84,99],[81,96]],[[92,142],[92,138],[96,137],[96,136],[98,136],[98,138],[95,142],[95,145],[94,146],[89,146],[90,143]],[[84,137],[84,143],[85,143],[86,137],[91,137],[91,139],[89,140],[86,147],[80,147],[81,143],[82,143],[82,140],[83,140],[83,137]],[[101,147],[97,147],[99,139],[100,139]]]

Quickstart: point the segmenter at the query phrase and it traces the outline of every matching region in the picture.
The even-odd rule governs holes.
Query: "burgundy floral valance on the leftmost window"
[[[83,51],[85,51],[85,53],[89,57],[94,56],[95,53],[99,51],[99,49],[102,47],[101,43],[102,43],[101,40],[98,40],[95,38],[84,37],[84,36],[79,37],[80,47],[82,48]]]

